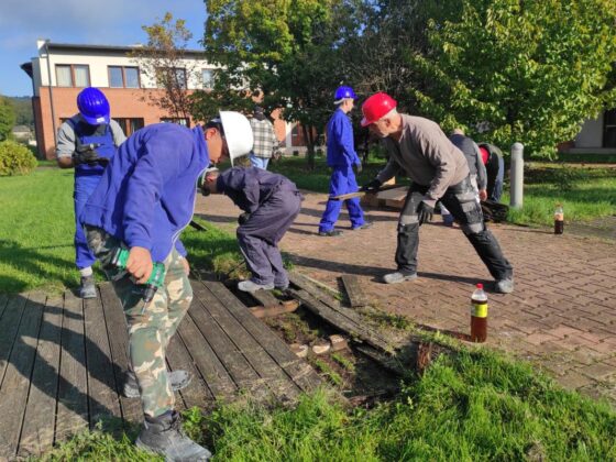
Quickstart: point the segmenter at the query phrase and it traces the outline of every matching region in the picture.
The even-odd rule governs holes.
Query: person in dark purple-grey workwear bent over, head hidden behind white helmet
[[[288,274],[283,266],[278,242],[301,208],[297,186],[283,175],[256,167],[233,167],[206,174],[205,194],[223,194],[243,213],[238,223],[238,242],[252,277],[238,284],[243,292],[274,287],[286,289]]]

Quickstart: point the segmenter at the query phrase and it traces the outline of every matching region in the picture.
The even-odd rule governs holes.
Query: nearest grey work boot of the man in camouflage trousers
[[[135,446],[163,455],[165,461],[208,461],[211,458],[210,451],[184,435],[177,410],[158,417],[146,415]]]

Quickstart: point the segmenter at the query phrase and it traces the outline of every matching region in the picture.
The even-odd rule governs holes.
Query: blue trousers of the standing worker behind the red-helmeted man
[[[333,167],[331,179],[329,183],[329,195],[339,196],[341,194],[356,193],[359,189],[358,182],[355,182],[355,174],[353,167]],[[360,206],[360,198],[344,200],[346,210],[349,210],[349,218],[351,219],[351,228],[358,228],[364,224],[364,211]],[[338,221],[340,209],[342,208],[341,200],[328,200],[326,211],[319,223],[319,232],[328,232],[333,229]]]

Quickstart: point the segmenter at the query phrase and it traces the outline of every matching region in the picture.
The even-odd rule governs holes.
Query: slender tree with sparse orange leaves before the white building
[[[188,81],[198,78],[198,64],[188,59],[188,42],[193,33],[186,21],[174,21],[172,13],[152,25],[141,29],[147,34],[147,44],[135,48],[131,56],[142,74],[156,82],[162,91],[145,91],[144,99],[179,119],[190,120],[190,95]]]

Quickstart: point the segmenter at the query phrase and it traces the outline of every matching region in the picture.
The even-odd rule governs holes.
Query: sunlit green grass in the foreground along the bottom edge
[[[294,409],[251,403],[202,416],[189,435],[215,461],[614,461],[616,413],[490,352],[441,356],[393,400],[345,408],[327,392]],[[140,460],[130,439],[85,433],[44,460]]]

